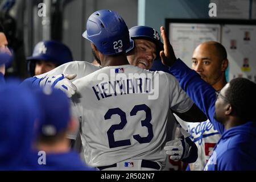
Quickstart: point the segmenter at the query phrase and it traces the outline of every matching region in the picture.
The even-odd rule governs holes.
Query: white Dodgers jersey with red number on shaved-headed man
[[[191,171],[202,171],[221,135],[214,129],[209,120],[191,123],[185,122],[179,117],[176,118],[180,125],[188,131],[191,140],[195,142],[198,148],[198,158],[195,163],[189,164],[189,167]]]

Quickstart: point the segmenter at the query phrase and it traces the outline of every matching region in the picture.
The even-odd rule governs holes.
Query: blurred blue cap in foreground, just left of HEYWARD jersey
[[[55,136],[67,129],[71,119],[68,97],[61,90],[44,87],[35,90],[43,117],[39,122],[39,135]]]

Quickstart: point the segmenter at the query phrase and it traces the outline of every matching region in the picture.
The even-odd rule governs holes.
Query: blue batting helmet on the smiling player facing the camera
[[[135,26],[130,28],[130,38],[131,39],[146,39],[154,42],[156,44],[156,51],[160,52],[163,50],[163,43],[161,42],[160,35],[158,31],[154,28],[147,26]],[[134,48],[134,43],[131,41],[130,49],[127,52],[131,51]],[[159,55],[158,55],[159,56]]]

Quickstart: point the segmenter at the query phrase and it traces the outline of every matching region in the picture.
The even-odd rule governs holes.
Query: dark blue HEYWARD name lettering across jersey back
[[[154,75],[154,76],[153,76]],[[100,84],[92,87],[97,100],[123,94],[145,93],[149,100],[156,100],[159,96],[159,75],[155,73],[134,73],[127,76],[115,69],[108,74],[101,73],[97,77]]]

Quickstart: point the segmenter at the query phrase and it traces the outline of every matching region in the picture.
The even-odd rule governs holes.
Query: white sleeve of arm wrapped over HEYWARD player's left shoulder
[[[73,82],[79,78],[89,75],[94,71],[97,71],[98,69],[100,68],[86,61],[72,61],[69,63],[62,64],[59,67],[52,69],[51,71],[36,77],[43,78],[45,76],[56,76],[61,74],[64,74],[64,75],[76,74],[77,75],[76,78],[71,80]]]

